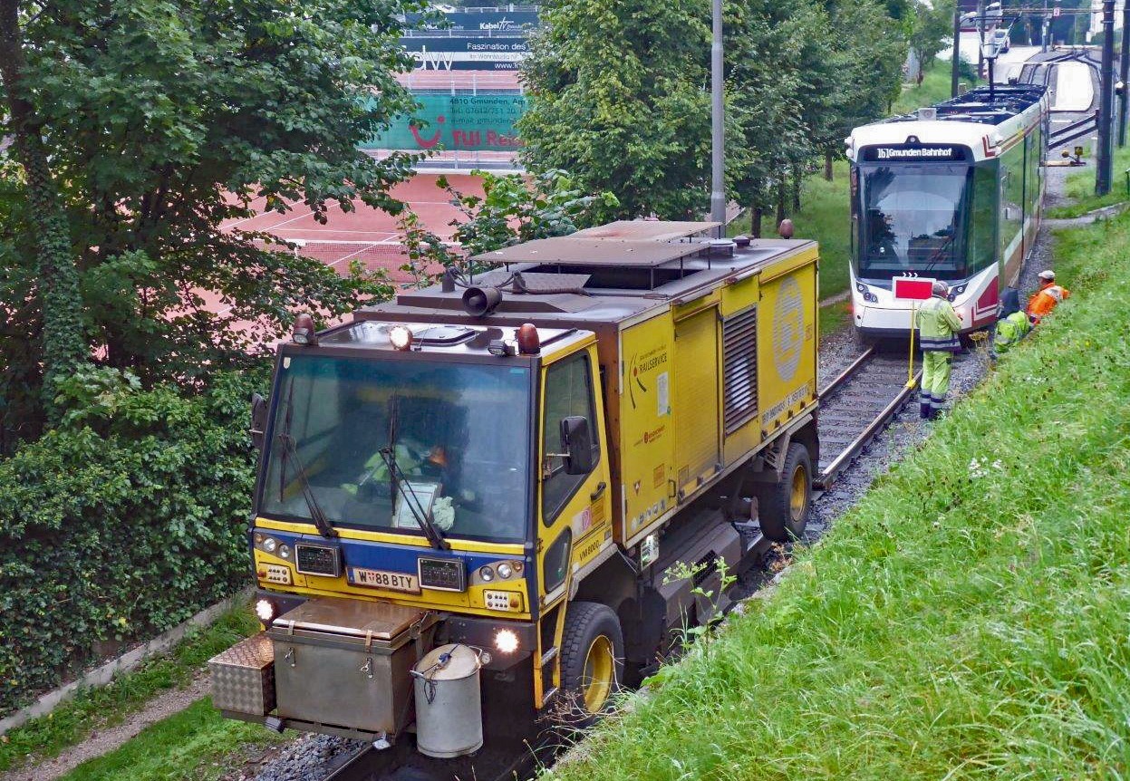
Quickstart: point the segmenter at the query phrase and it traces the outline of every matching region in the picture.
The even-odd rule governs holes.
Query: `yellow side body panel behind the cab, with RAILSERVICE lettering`
[[[621,544],[661,526],[815,408],[817,260],[817,246],[803,243],[751,274],[620,327],[610,436]],[[734,341],[744,341],[728,354],[731,328]],[[749,399],[754,388],[748,411],[728,422],[727,394],[732,403]]]

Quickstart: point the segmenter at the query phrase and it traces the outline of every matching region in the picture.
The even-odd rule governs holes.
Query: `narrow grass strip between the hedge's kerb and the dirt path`
[[[210,626],[192,631],[168,654],[119,676],[108,686],[84,689],[49,715],[8,731],[0,741],[0,771],[32,757],[58,756],[93,730],[121,723],[154,696],[188,685],[209,658],[258,630],[246,607],[229,610]]]

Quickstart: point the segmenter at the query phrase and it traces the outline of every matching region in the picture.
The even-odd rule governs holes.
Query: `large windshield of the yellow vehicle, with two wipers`
[[[530,371],[427,359],[284,358],[260,513],[420,535],[524,540]]]

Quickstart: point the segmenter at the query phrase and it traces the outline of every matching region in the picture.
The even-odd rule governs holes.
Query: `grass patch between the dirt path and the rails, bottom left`
[[[82,763],[63,781],[208,781],[255,752],[292,738],[223,718],[211,698],[142,730],[121,748]]]

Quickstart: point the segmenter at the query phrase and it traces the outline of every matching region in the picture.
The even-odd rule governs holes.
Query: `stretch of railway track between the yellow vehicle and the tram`
[[[820,463],[814,486],[827,489],[918,388],[907,387],[906,356],[871,346],[820,391]]]

